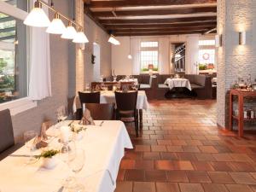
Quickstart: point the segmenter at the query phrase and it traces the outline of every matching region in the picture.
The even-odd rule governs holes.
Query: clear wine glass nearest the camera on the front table
[[[69,189],[73,189],[74,192],[83,192],[84,191],[84,185],[79,182],[77,175],[84,167],[84,160],[85,160],[85,154],[84,149],[82,148],[76,148],[75,152],[75,158],[68,158],[68,166],[71,168],[71,170],[74,172],[75,177],[68,178],[68,181],[75,181],[75,184],[72,182],[72,185],[69,186]]]

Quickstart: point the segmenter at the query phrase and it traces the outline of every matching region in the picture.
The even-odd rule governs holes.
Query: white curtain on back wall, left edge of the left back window
[[[131,52],[132,52],[132,74],[138,75],[141,73],[140,53],[141,53],[141,39],[131,38]]]

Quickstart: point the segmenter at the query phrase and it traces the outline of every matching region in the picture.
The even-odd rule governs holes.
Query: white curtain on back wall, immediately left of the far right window
[[[186,74],[198,74],[198,51],[199,36],[191,35],[187,37],[186,43]]]

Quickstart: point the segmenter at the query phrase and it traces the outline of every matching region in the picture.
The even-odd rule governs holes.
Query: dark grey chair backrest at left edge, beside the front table
[[[0,111],[0,153],[15,145],[15,137],[9,109]]]

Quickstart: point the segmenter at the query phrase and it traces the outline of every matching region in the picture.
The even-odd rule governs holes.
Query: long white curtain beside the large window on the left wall
[[[35,0],[34,0],[35,1]],[[48,10],[44,9],[48,15]],[[45,28],[31,27],[29,97],[41,100],[51,96],[49,34]]]

